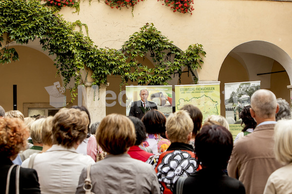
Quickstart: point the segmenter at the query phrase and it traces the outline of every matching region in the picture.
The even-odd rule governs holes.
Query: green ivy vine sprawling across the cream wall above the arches
[[[127,81],[165,85],[174,73],[181,78],[185,67],[197,81],[194,70],[201,68],[206,54],[199,44],[183,52],[151,23],[131,35],[122,49],[99,49],[89,36],[74,30],[82,25],[80,21],[71,23],[55,16],[39,0],[0,0],[0,64],[18,60],[11,42],[28,44],[38,38],[42,49],[55,56],[57,74],[62,75],[64,84],[75,79],[72,91],[82,84],[80,70],[84,68],[92,70],[92,84],[98,86],[107,84],[110,75],[121,76],[121,85]],[[155,63],[154,68],[137,60],[147,53]]]

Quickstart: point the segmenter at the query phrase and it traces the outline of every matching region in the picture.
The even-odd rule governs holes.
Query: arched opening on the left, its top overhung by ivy
[[[5,111],[13,110],[13,85],[17,85],[17,109],[28,116],[31,108],[54,108],[45,87],[62,80],[56,77],[54,62],[48,55],[26,46],[13,46],[19,61],[0,65],[0,104]],[[70,100],[70,92],[66,96]]]

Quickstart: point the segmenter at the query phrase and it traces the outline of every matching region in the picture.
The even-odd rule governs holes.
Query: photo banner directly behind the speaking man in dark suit
[[[155,102],[157,109],[168,116],[172,113],[172,85],[126,86],[126,115],[129,115],[131,104],[141,100],[140,90],[148,90],[148,101]]]

